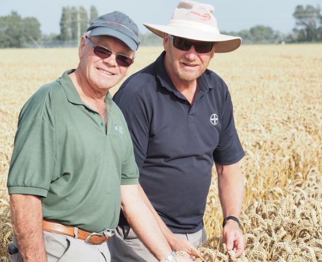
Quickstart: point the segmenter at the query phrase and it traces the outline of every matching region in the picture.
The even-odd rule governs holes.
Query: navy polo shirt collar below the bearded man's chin
[[[185,99],[185,96],[183,96],[173,84],[171,78],[168,75],[168,72],[165,67],[164,59],[165,59],[166,51],[163,51],[160,56],[156,59],[156,67],[155,67],[155,73],[156,77],[159,79],[160,83],[164,88],[166,88],[168,91],[173,92],[177,97]],[[215,87],[215,84],[209,79],[209,77],[203,73],[198,78],[198,86],[197,86],[197,94],[204,94],[208,92],[209,90],[213,89]]]

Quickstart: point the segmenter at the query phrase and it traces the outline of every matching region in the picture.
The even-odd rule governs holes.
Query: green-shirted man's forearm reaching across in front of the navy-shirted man
[[[130,226],[157,259],[164,259],[172,250],[150,208],[141,198],[139,187],[135,191],[129,186],[127,189],[122,187],[122,211]]]

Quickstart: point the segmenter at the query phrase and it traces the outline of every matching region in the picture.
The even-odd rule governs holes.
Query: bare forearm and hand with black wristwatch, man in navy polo
[[[219,199],[224,216],[222,236],[228,251],[236,257],[245,249],[245,237],[239,216],[244,198],[244,181],[239,163],[220,165],[215,163],[218,173]]]

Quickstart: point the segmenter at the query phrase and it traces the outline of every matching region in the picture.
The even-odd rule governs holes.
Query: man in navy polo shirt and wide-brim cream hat
[[[245,246],[238,164],[244,150],[227,85],[207,67],[215,53],[239,48],[241,38],[220,34],[213,12],[211,5],[181,1],[168,25],[144,24],[164,38],[165,51],[127,79],[113,100],[130,130],[146,202],[172,249],[205,241],[203,215],[215,162],[223,239],[239,256]],[[156,261],[122,214],[116,231],[109,242],[113,261]]]

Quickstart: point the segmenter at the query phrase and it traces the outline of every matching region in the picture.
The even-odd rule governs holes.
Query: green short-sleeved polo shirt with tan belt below
[[[9,194],[42,198],[43,217],[87,231],[115,228],[120,185],[137,184],[132,141],[107,94],[106,126],[66,71],[22,107],[8,176]]]

